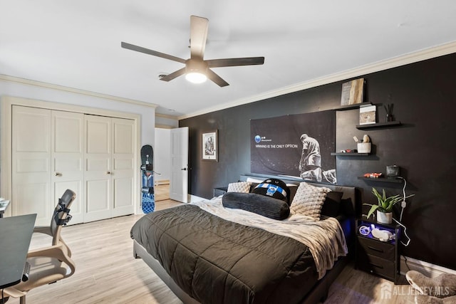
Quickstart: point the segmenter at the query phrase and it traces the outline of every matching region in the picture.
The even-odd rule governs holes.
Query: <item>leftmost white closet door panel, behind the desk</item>
[[[51,110],[12,108],[11,214],[37,214],[35,224],[51,222]]]

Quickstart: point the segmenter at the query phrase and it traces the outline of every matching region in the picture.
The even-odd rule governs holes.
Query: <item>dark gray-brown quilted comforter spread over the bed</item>
[[[298,303],[318,278],[303,243],[194,205],[143,216],[131,237],[201,303]]]

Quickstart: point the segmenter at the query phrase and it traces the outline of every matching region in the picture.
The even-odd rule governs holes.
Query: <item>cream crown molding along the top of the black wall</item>
[[[426,48],[421,51],[408,53],[403,56],[389,58],[385,61],[378,61],[375,63],[369,63],[367,65],[361,65],[357,68],[352,68],[350,70],[344,70],[339,73],[333,73],[331,75],[326,75],[322,78],[316,78],[313,80],[305,81],[303,83],[297,83],[295,85],[289,85],[284,88],[279,88],[278,90],[271,90],[271,91],[261,93],[258,95],[253,95],[249,98],[242,98],[239,100],[234,100],[233,102],[230,102],[230,103],[224,103],[222,105],[215,105],[214,107],[206,108],[204,110],[193,112],[188,115],[182,115],[182,116],[179,116],[178,118],[179,118],[179,120],[183,120],[185,118],[195,117],[198,115],[207,114],[209,112],[215,112],[218,110],[224,110],[227,108],[236,107],[237,105],[254,103],[259,100],[274,98],[279,95],[294,93],[299,90],[315,88],[319,85],[327,85],[328,83],[335,83],[336,81],[346,80],[346,79],[355,78],[355,77],[358,77],[361,75],[379,72],[380,70],[388,70],[389,68],[396,68],[401,65],[407,65],[407,64],[416,63],[419,61],[425,61],[430,58],[444,56],[444,55],[448,55],[451,53],[456,53],[456,41],[453,41],[450,43],[445,43],[440,46],[435,46],[432,48]]]

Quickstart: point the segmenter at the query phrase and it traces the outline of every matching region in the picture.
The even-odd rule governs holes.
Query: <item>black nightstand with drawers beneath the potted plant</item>
[[[372,232],[363,229],[365,226],[372,230],[374,224],[380,230],[388,230],[395,234],[395,239],[390,241],[380,241],[376,239]],[[356,268],[368,273],[386,278],[398,283],[399,279],[399,246],[401,228],[396,224],[382,224],[375,220],[357,219],[356,220]]]

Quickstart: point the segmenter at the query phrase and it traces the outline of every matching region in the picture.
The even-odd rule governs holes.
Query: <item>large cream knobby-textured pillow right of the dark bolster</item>
[[[301,182],[291,202],[291,214],[302,214],[311,216],[315,221],[320,220],[321,207],[326,199],[326,194],[331,189],[326,187],[315,187],[306,182]]]

